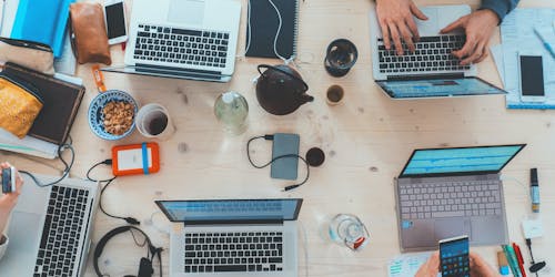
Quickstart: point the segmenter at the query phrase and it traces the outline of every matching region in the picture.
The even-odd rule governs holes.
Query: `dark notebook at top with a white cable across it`
[[[278,34],[278,53],[290,59],[296,54],[299,20],[299,0],[273,0],[280,11],[282,27]],[[280,27],[278,12],[268,0],[249,1],[250,23],[246,24],[246,57],[278,58],[274,52],[274,39]]]

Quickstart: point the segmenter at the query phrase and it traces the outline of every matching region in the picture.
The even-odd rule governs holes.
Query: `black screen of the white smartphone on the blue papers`
[[[541,55],[521,55],[521,91],[524,96],[544,96],[544,69]]]

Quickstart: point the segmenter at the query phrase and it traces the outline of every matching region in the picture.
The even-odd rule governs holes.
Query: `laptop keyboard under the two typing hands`
[[[403,43],[403,55],[397,55],[394,48],[386,50],[383,39],[377,39],[381,73],[423,73],[428,71],[464,71],[470,65],[461,65],[461,61],[452,54],[463,48],[465,35],[422,37],[414,43],[415,51],[408,51]]]

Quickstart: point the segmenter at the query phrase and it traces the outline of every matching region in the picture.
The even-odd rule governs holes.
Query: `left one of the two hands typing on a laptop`
[[[376,0],[377,22],[382,29],[385,49],[391,49],[391,41],[395,44],[397,54],[403,54],[401,38],[414,51],[414,41],[418,41],[418,29],[413,16],[421,20],[427,17],[414,4],[412,0]]]

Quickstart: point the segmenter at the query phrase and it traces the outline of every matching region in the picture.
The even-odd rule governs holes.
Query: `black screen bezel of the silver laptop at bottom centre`
[[[296,201],[295,212],[292,219],[239,219],[239,220],[178,220],[170,215],[163,203],[171,202],[233,202],[233,201]],[[154,201],[158,207],[164,213],[172,223],[184,223],[185,225],[206,225],[206,224],[274,224],[283,222],[294,222],[299,218],[303,198],[263,198],[263,199],[180,199],[180,201]]]

